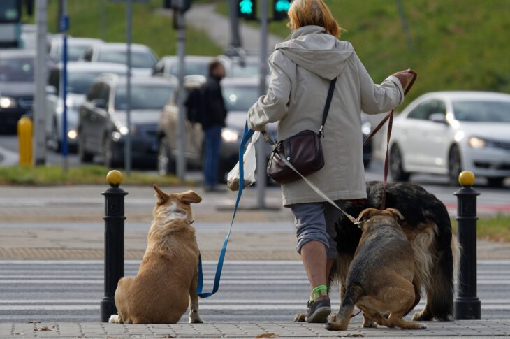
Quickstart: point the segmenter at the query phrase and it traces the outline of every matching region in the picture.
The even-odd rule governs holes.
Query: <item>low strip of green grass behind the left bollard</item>
[[[57,166],[0,167],[0,185],[107,185],[106,174],[110,171],[103,166],[82,166],[69,168],[64,173]],[[122,185],[178,185],[175,176],[159,176],[132,171],[124,174]],[[187,183],[189,184],[189,183]]]

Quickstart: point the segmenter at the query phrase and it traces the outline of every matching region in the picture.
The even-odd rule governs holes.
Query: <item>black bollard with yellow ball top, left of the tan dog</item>
[[[124,277],[124,189],[119,188],[122,173],[110,171],[106,176],[110,188],[101,192],[105,196],[105,296],[101,299],[101,322],[108,322],[117,314],[115,289]]]

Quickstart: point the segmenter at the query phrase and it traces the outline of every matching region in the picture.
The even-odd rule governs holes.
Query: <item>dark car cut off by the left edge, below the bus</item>
[[[0,50],[0,132],[15,134],[34,102],[34,50]]]

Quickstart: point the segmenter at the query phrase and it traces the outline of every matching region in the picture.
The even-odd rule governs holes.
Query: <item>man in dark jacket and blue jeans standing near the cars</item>
[[[223,64],[217,60],[212,61],[209,64],[209,78],[201,89],[204,110],[201,123],[205,137],[203,173],[206,191],[217,190],[221,129],[225,127],[226,119],[226,108],[220,84],[224,77]]]

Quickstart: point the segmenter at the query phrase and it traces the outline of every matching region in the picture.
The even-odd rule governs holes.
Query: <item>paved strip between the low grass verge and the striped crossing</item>
[[[107,185],[0,187],[0,259],[103,259],[104,198]],[[141,259],[152,221],[154,190],[123,186],[126,196],[125,258]],[[195,189],[203,202],[194,205],[198,245],[205,260],[215,260],[230,225],[235,192],[209,193],[201,187],[163,187],[172,192]],[[256,189],[243,194],[227,259],[298,260],[293,217],[279,208],[280,191],[267,190],[270,210],[254,210]],[[510,243],[479,240],[478,259],[510,259]]]

